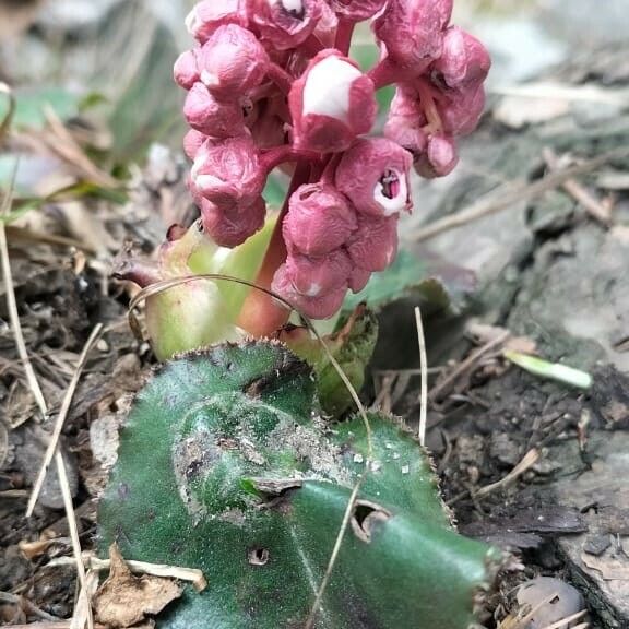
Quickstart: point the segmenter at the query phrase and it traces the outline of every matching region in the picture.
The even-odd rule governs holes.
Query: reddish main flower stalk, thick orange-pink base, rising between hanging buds
[[[266,249],[266,254],[262,261],[262,266],[258,272],[258,277],[256,278],[256,284],[262,288],[271,288],[271,283],[273,282],[273,276],[275,271],[286,261],[286,244],[284,242],[284,237],[282,236],[282,223],[286,212],[288,212],[288,200],[290,195],[299,186],[308,181],[310,175],[310,166],[306,163],[300,163],[297,165],[295,175],[290,180],[290,186],[286,192],[286,199],[284,200],[284,205],[277,217],[277,223],[275,224],[275,229],[271,236],[271,241],[269,242],[269,249]],[[245,330],[251,336],[268,337],[273,336],[274,333],[280,330],[288,321],[290,317],[290,310],[285,306],[274,300],[273,297],[262,293],[262,290],[257,290],[251,288],[240,314],[238,317],[238,327]]]

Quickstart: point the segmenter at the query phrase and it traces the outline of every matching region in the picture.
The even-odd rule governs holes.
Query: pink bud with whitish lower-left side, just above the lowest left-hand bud
[[[264,188],[266,171],[249,137],[206,141],[190,171],[192,193],[221,210],[253,204]]]

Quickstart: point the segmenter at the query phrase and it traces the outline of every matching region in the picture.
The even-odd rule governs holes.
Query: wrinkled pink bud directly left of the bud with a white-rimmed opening
[[[288,250],[325,256],[345,244],[357,227],[349,203],[324,183],[300,186],[290,197],[282,234]]]

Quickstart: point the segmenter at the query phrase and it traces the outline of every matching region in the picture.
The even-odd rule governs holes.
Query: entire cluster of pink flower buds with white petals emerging
[[[305,314],[332,316],[391,263],[411,168],[450,173],[454,138],[477,124],[489,57],[449,25],[451,11],[452,0],[203,0],[187,20],[198,44],[175,79],[188,91],[185,149],[204,229],[244,242],[264,223],[269,173],[294,168],[272,289]],[[381,58],[365,73],[348,51],[369,19]],[[389,84],[385,137],[365,138]]]

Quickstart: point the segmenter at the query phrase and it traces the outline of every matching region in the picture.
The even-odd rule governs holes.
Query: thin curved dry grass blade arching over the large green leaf
[[[137,329],[137,327],[138,327],[138,322],[134,320],[134,310],[142,301],[144,301],[144,299],[146,299],[147,297],[150,297],[152,295],[157,295],[164,290],[168,290],[169,288],[174,288],[175,286],[180,286],[181,284],[186,284],[188,282],[194,282],[194,281],[199,281],[199,280],[235,282],[237,284],[242,284],[245,286],[249,286],[250,288],[252,288],[254,290],[261,290],[262,293],[265,293],[266,295],[273,297],[274,299],[276,299],[281,304],[283,304],[286,308],[294,310],[294,307],[288,301],[286,301],[286,299],[284,299],[280,295],[273,293],[272,290],[269,290],[268,288],[264,288],[262,286],[258,286],[253,282],[248,282],[247,280],[240,280],[238,277],[232,277],[228,275],[207,273],[207,274],[194,275],[194,276],[190,276],[190,277],[178,277],[175,280],[165,280],[163,282],[157,282],[156,284],[152,284],[151,286],[147,286],[146,288],[143,288],[142,290],[140,290],[140,293],[138,293],[135,295],[135,297],[131,300],[131,304],[129,305],[129,318],[130,318],[131,327],[134,329]],[[328,588],[330,577],[331,577],[332,571],[334,569],[334,565],[336,563],[336,559],[339,557],[339,551],[341,549],[341,545],[342,545],[343,539],[345,537],[345,533],[347,532],[347,527],[349,526],[349,521],[352,519],[352,513],[354,511],[354,502],[356,500],[356,497],[358,496],[360,485],[363,484],[365,477],[367,476],[367,474],[369,473],[369,471],[371,468],[371,461],[373,458],[372,456],[373,442],[372,442],[372,436],[371,436],[371,426],[369,424],[369,418],[367,417],[367,411],[365,410],[363,402],[360,402],[360,397],[358,396],[358,393],[356,392],[356,390],[352,385],[352,382],[349,381],[349,379],[347,378],[347,376],[345,375],[345,372],[341,368],[341,365],[339,365],[339,361],[336,360],[336,358],[334,358],[334,356],[332,355],[332,352],[330,352],[330,348],[328,347],[328,345],[325,344],[325,342],[321,337],[321,334],[319,334],[319,332],[317,331],[317,329],[314,328],[314,325],[312,324],[310,319],[308,319],[308,317],[301,314],[298,310],[297,310],[297,312],[300,314],[301,319],[306,322],[308,330],[316,336],[317,341],[321,344],[321,347],[323,348],[323,352],[325,353],[327,358],[330,360],[331,365],[334,367],[335,371],[339,373],[339,377],[343,381],[343,384],[345,384],[345,387],[347,388],[349,395],[352,395],[352,399],[354,400],[354,403],[356,404],[356,406],[358,408],[358,413],[360,414],[360,417],[361,417],[363,423],[365,425],[366,435],[367,435],[367,460],[365,462],[365,473],[356,482],[354,489],[352,491],[352,496],[349,497],[349,500],[347,502],[347,508],[345,509],[345,513],[343,515],[343,521],[342,521],[341,526],[339,529],[339,534],[336,535],[336,539],[334,542],[334,547],[332,548],[332,553],[330,555],[330,560],[329,560],[328,566],[325,568],[325,572],[323,574],[323,579],[321,580],[321,584],[319,586],[319,590],[317,591],[317,595],[314,597],[314,603],[312,604],[312,608],[311,608],[310,614],[308,616],[308,620],[306,622],[305,629],[311,629],[313,626],[317,613],[319,612],[321,601],[323,600],[323,595],[325,594],[325,590]]]

